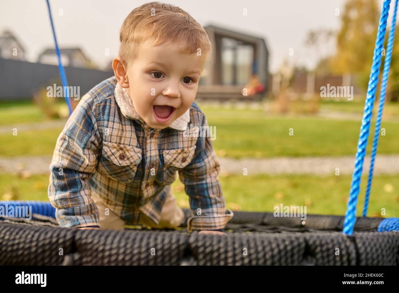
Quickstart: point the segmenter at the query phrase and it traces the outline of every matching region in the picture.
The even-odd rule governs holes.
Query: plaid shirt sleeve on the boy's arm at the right
[[[205,116],[202,130],[208,127]],[[205,131],[202,131],[204,134]],[[179,177],[186,194],[190,197],[190,208],[194,214],[187,220],[187,230],[220,230],[233,217],[233,212],[227,210],[219,182],[220,165],[213,149],[211,136],[199,136],[196,143],[194,158],[182,170]]]

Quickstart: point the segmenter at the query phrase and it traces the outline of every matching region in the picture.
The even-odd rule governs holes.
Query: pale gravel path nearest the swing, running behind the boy
[[[0,157],[0,173],[48,174],[51,156],[19,156],[14,158]],[[275,158],[242,158],[232,159],[219,157],[221,175],[243,174],[335,174],[339,168],[340,175],[352,174],[355,157],[275,157]],[[369,157],[366,157],[363,172],[368,173]],[[374,174],[399,174],[399,155],[377,154]]]

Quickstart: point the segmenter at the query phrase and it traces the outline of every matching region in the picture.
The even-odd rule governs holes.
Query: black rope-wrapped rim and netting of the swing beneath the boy
[[[399,232],[377,232],[382,218],[275,217],[235,212],[227,236],[144,226],[125,231],[59,228],[49,216],[0,218],[0,265],[397,265]]]

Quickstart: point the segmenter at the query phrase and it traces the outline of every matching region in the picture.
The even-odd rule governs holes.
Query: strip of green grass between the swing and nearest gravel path
[[[273,212],[274,206],[306,206],[308,214],[344,215],[351,176],[220,176],[227,207],[232,210]],[[358,216],[363,210],[366,177],[363,176]],[[0,175],[0,196],[11,187],[18,200],[48,201],[49,176],[28,179],[11,174]],[[188,196],[179,179],[172,184],[178,204],[189,208]],[[375,176],[368,216],[399,217],[399,177]]]

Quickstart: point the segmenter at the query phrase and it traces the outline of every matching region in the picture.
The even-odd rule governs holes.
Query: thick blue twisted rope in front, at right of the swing
[[[381,65],[381,51],[384,47],[385,31],[391,0],[384,0],[381,17],[379,20],[377,39],[373,55],[373,65],[371,65],[369,84],[367,87],[366,101],[364,106],[363,119],[361,121],[358,150],[356,152],[355,168],[352,176],[352,184],[346,208],[344,221],[344,234],[352,235],[356,222],[356,205],[360,191],[361,172],[363,170],[364,156],[366,153],[367,138],[370,130],[370,120],[374,105],[375,91],[377,90],[379,67]]]

